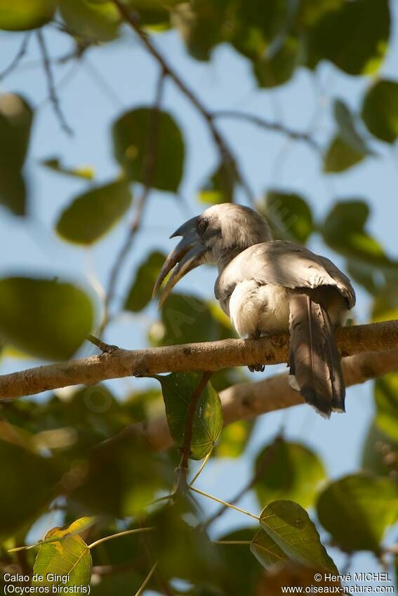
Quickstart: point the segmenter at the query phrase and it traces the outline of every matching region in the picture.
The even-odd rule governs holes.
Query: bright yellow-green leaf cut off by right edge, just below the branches
[[[375,381],[376,425],[391,439],[398,440],[398,372]]]

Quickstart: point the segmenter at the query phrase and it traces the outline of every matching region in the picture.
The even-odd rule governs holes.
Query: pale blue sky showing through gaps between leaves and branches
[[[394,13],[396,22],[395,3]],[[69,37],[54,27],[46,27],[44,34],[52,56],[65,55],[71,49]],[[21,39],[20,34],[0,34],[0,71],[17,53]],[[248,61],[226,44],[215,49],[210,63],[201,63],[187,56],[182,41],[173,31],[157,36],[156,43],[208,109],[248,111],[296,130],[306,130],[314,123],[314,136],[323,140],[333,132],[333,99],[342,97],[352,109],[358,110],[361,95],[371,83],[369,79],[345,75],[324,62],[317,67],[315,77],[305,69],[298,69],[286,85],[274,90],[258,90]],[[394,26],[390,52],[380,74],[397,78],[397,64],[398,40]],[[106,286],[114,256],[126,236],[129,218],[125,218],[91,249],[61,241],[53,230],[60,212],[74,196],[88,189],[91,182],[51,172],[39,161],[59,157],[62,163],[71,167],[91,165],[95,169],[95,184],[111,181],[117,176],[119,166],[112,156],[110,126],[121,112],[152,104],[157,74],[154,60],[142,50],[138,39],[128,29],[118,41],[88,50],[81,62],[58,65],[55,70],[58,95],[67,122],[74,130],[74,136],[68,137],[60,130],[48,101],[37,41],[32,37],[29,52],[20,67],[0,81],[1,92],[22,93],[37,108],[27,162],[29,188],[32,190],[31,217],[28,220],[17,219],[1,208],[0,276],[56,274],[76,280],[85,287],[91,286],[94,297],[98,288]],[[152,192],[142,229],[121,276],[118,291],[121,297],[131,282],[135,266],[147,252],[156,248],[165,252],[171,250],[173,241],[169,241],[168,236],[185,219],[203,210],[195,198],[197,189],[218,159],[206,123],[171,81],[166,81],[162,108],[173,114],[183,130],[187,153],[185,176],[178,198],[172,194]],[[378,156],[367,158],[346,173],[326,176],[321,171],[319,156],[303,143],[292,142],[284,135],[233,120],[220,121],[219,128],[237,155],[241,170],[258,198],[270,188],[297,192],[307,199],[319,220],[337,198],[363,198],[372,209],[369,231],[383,243],[390,256],[398,258],[396,147],[376,143],[374,147]],[[139,196],[139,188],[135,196]],[[245,203],[243,193],[238,198],[239,202]],[[343,266],[343,259],[331,253],[319,236],[314,236],[310,248],[332,256],[336,264]],[[211,298],[214,280],[213,269],[197,269],[180,283],[180,289]],[[364,323],[368,320],[371,302],[365,292],[357,290],[358,304],[354,317],[357,322]],[[155,305],[143,314],[124,314],[108,327],[105,339],[124,348],[146,346],[148,323],[156,318]],[[81,355],[89,353],[92,353],[91,346],[84,346]],[[3,358],[0,373],[36,364],[37,361]],[[264,374],[275,374],[283,368],[268,367]],[[256,375],[253,379],[260,379],[260,376]],[[131,388],[142,389],[148,383],[140,379],[120,379],[110,382],[110,387],[114,393],[123,396]],[[347,413],[335,414],[329,421],[305,406],[263,416],[258,420],[245,455],[239,460],[211,461],[201,475],[201,489],[222,499],[233,496],[251,476],[253,455],[278,433],[281,425],[288,439],[305,442],[321,455],[331,478],[356,471],[373,414],[371,385],[367,383],[349,388]],[[45,396],[37,397],[43,398]],[[203,505],[211,512],[215,503]],[[242,499],[239,505],[258,513],[256,499],[251,495]],[[45,522],[31,533],[32,540],[40,538],[55,522],[55,517],[46,517]],[[228,512],[213,525],[212,535],[217,536],[247,523],[239,513]],[[337,552],[331,550],[331,554],[337,564],[343,562],[344,557]],[[355,555],[352,571],[373,569],[377,567],[371,555]]]

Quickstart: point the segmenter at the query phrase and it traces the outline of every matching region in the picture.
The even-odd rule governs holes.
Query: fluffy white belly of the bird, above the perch
[[[238,283],[230,297],[230,319],[240,337],[254,337],[288,330],[289,290],[281,285],[260,285],[254,280]]]

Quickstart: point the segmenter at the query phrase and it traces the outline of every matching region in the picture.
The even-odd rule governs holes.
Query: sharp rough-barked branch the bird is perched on
[[[398,320],[343,327],[337,331],[338,348],[347,356],[398,347]],[[0,398],[13,399],[47,389],[77,384],[93,385],[106,379],[150,376],[161,372],[215,371],[253,363],[284,363],[288,335],[260,339],[225,339],[144,350],[116,347],[108,353],[31,368],[0,376]],[[296,394],[295,394],[296,395]]]

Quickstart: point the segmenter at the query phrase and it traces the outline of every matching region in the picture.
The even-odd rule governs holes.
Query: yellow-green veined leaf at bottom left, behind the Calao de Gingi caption
[[[38,578],[34,585],[87,586],[90,583],[90,550],[78,534],[68,534],[67,529],[62,528],[53,528],[46,534],[45,543],[39,546],[33,567],[33,573],[42,579]],[[53,541],[57,538],[60,540]],[[51,542],[46,542],[48,540]]]

